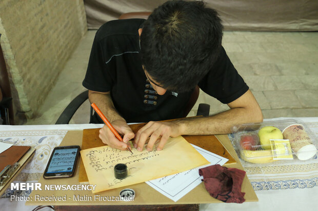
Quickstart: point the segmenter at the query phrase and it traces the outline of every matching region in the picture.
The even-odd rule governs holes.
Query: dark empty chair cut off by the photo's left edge
[[[1,34],[0,34],[1,38]],[[14,124],[13,105],[8,71],[0,45],[0,113],[4,125]]]

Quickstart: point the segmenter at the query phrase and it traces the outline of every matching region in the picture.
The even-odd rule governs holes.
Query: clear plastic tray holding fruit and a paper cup
[[[238,156],[249,163],[304,161],[316,158],[317,137],[305,123],[293,119],[232,127]]]

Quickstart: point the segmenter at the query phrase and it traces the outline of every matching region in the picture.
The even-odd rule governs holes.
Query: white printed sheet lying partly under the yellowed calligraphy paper
[[[228,159],[218,156],[205,149],[192,145],[210,164],[191,169],[189,171],[165,176],[163,178],[147,181],[146,183],[166,197],[177,201],[189,193],[194,187],[200,184],[203,176],[198,174],[198,170],[207,166],[220,164],[223,166]]]

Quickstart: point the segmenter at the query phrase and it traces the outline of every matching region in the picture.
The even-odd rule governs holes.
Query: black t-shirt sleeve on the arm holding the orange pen
[[[97,34],[98,31],[93,41],[83,86],[92,91],[106,92],[112,87],[111,70],[106,66],[104,57],[106,49],[103,49],[101,42],[97,39]]]

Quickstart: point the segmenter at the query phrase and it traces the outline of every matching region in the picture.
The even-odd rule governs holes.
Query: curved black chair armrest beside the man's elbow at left
[[[88,90],[80,93],[76,98],[74,98],[68,106],[64,109],[59,118],[57,119],[55,125],[68,124],[72,119],[72,116],[76,110],[88,99]]]

